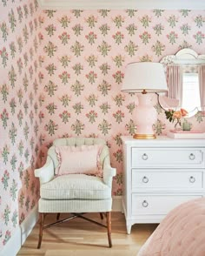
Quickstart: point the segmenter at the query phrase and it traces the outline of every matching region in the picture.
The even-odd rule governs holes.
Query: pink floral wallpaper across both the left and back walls
[[[55,138],[106,139],[122,195],[121,135],[135,132],[136,95],[121,91],[126,64],[204,53],[204,10],[39,10],[0,2],[0,250],[38,198],[33,170]],[[157,134],[173,125],[156,103]],[[197,114],[194,127],[204,127]]]

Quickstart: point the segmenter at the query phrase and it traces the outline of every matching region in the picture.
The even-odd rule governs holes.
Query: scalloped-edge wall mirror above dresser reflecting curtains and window
[[[159,97],[162,108],[183,108],[188,111],[188,118],[202,111],[205,106],[205,55],[186,48],[163,57],[160,63],[164,65],[169,88],[166,97]]]

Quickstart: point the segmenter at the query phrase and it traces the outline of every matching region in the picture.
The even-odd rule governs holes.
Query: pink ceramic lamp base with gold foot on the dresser
[[[139,105],[136,109],[136,134],[133,138],[156,138],[155,131],[153,131],[153,124],[157,120],[157,113],[153,107],[153,95],[138,94]]]

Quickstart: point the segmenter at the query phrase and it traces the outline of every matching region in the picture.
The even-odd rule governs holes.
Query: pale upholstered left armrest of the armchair
[[[47,183],[54,178],[54,165],[52,159],[48,156],[45,165],[35,170],[35,177],[40,179],[40,184]]]

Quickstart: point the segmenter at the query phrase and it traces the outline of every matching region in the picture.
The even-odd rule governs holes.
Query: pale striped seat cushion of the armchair
[[[111,189],[99,177],[69,174],[41,185],[40,195],[42,199],[111,199]]]

